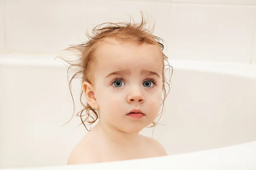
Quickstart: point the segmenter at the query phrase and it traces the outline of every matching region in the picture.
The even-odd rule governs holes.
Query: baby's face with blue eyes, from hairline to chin
[[[101,123],[139,132],[160,111],[163,57],[156,45],[108,40],[96,52],[94,93]],[[139,109],[143,114],[128,114]]]

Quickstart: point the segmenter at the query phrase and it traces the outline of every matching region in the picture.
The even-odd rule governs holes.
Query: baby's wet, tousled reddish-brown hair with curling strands
[[[82,42],[78,45],[70,45],[69,48],[65,49],[67,51],[78,51],[79,54],[77,55],[76,59],[74,60],[64,59],[64,57],[61,57],[61,56],[56,57],[56,58],[63,59],[64,62],[68,64],[67,77],[68,77],[69,90],[72,96],[73,106],[74,106],[73,115],[71,119],[73,118],[75,113],[75,102],[74,102],[74,98],[71,91],[72,81],[73,79],[78,78],[81,80],[81,82],[87,81],[92,85],[94,84],[93,75],[95,73],[95,65],[96,65],[95,53],[102,44],[106,43],[105,40],[109,38],[115,38],[116,40],[125,41],[125,42],[132,42],[138,45],[142,45],[143,43],[148,43],[152,45],[157,45],[160,48],[163,56],[163,72],[162,72],[163,99],[161,103],[162,111],[159,114],[161,118],[163,113],[164,102],[166,100],[167,95],[169,94],[169,91],[168,92],[166,91],[166,85],[170,90],[170,79],[172,77],[172,74],[171,74],[170,79],[168,81],[164,73],[170,67],[172,68],[172,66],[169,65],[168,57],[163,53],[164,40],[153,35],[155,23],[154,23],[154,26],[151,28],[151,30],[149,30],[145,27],[148,23],[147,22],[148,18],[145,19],[143,12],[141,12],[141,17],[142,17],[142,20],[140,23],[135,23],[132,17],[130,18],[129,22],[102,23],[96,26],[95,28],[93,28],[92,34],[88,34],[88,31],[87,31],[86,35],[87,35],[87,38],[89,39],[87,42]],[[131,22],[131,20],[133,20],[133,22]],[[167,63],[166,65],[165,65],[165,62]],[[75,71],[72,72],[71,70],[75,70]],[[172,72],[173,72],[173,68],[172,68]],[[73,73],[70,80],[69,80],[69,76],[70,76],[69,73],[71,74]],[[93,109],[88,103],[82,102],[83,93],[84,92],[81,87],[80,102],[83,108],[78,113],[76,113],[76,116],[80,117],[81,124],[83,124],[84,127],[88,130],[87,125],[92,125],[99,118],[99,110]],[[83,117],[85,118],[83,119]],[[70,122],[70,120],[68,122]],[[87,125],[85,125],[85,122],[87,122]],[[157,122],[152,122],[149,127],[155,127]]]

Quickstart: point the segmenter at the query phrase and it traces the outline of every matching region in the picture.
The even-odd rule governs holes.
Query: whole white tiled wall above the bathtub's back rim
[[[0,0],[0,8],[6,53],[61,54],[88,27],[129,14],[140,21],[141,10],[154,17],[169,59],[256,63],[256,0]]]

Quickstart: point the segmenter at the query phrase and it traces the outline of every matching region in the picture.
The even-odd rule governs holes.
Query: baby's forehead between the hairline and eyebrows
[[[109,40],[96,52],[96,73],[108,74],[111,71],[130,70],[141,72],[149,70],[158,73],[163,69],[163,57],[157,45]]]

